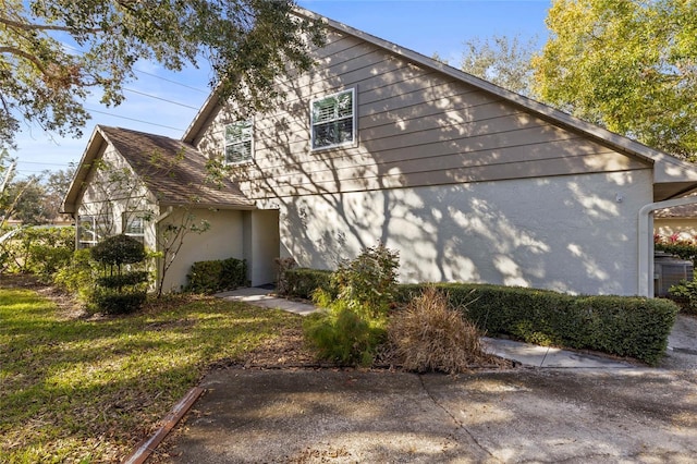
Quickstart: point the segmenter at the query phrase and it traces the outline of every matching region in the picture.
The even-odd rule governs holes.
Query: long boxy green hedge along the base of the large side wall
[[[668,346],[678,307],[659,298],[572,296],[502,285],[437,283],[455,307],[490,335],[511,335],[541,345],[596,350],[656,365]],[[399,301],[425,284],[400,285]]]

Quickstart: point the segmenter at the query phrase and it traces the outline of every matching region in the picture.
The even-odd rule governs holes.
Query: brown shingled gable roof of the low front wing
[[[254,203],[230,180],[220,185],[207,181],[207,159],[192,145],[161,135],[97,125],[63,202],[65,212],[75,212],[84,182],[106,145],[126,160],[160,206],[254,208]]]

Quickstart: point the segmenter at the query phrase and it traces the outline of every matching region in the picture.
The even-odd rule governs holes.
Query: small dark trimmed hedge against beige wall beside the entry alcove
[[[236,258],[196,261],[186,279],[186,292],[216,293],[234,290],[247,283],[247,261]]]

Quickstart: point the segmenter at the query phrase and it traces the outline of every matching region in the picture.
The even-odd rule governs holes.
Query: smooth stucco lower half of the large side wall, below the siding
[[[281,241],[301,266],[332,269],[382,240],[407,282],[635,294],[647,185],[649,170],[281,198]]]

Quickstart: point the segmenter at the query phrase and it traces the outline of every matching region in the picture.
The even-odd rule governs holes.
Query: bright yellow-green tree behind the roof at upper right
[[[684,158],[697,155],[697,2],[555,0],[534,59],[543,101]]]

